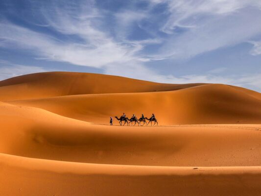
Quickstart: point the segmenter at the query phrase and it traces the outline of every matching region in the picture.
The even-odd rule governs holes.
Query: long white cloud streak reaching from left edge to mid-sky
[[[107,63],[125,62],[133,58],[133,48],[121,46],[109,39],[101,45],[64,43],[42,33],[11,25],[0,24],[1,47],[23,48],[34,51],[42,59],[69,62],[75,65],[102,67]],[[97,41],[97,40],[96,40]]]

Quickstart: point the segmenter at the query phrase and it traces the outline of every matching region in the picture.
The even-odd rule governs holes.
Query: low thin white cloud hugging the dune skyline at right
[[[131,77],[136,79],[162,82],[162,83],[218,83],[218,84],[229,84],[235,86],[242,86],[261,92],[261,73],[250,73],[250,74],[231,74],[222,75],[226,69],[215,69],[205,74],[188,74],[175,76],[173,74],[159,74],[155,71],[144,67],[139,62],[132,62],[124,66],[125,72],[121,72],[119,66],[110,65],[106,68],[105,73],[113,75],[122,75],[125,77]]]

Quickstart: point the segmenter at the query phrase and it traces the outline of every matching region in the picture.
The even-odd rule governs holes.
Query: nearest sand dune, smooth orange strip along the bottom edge
[[[0,183],[5,196],[259,196],[261,191],[261,167],[193,170],[71,163],[2,154],[0,157],[4,176]]]

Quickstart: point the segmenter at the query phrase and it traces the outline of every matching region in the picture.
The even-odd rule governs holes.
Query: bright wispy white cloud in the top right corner
[[[233,14],[248,7],[261,7],[260,0],[153,0],[152,3],[166,3],[170,14],[162,30],[173,33],[177,26],[196,27],[202,16]]]

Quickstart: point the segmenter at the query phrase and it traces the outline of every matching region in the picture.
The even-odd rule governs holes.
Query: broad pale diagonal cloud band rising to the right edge
[[[208,17],[181,35],[170,38],[157,55],[191,58],[215,49],[233,46],[261,34],[261,11],[242,9],[235,15]]]

